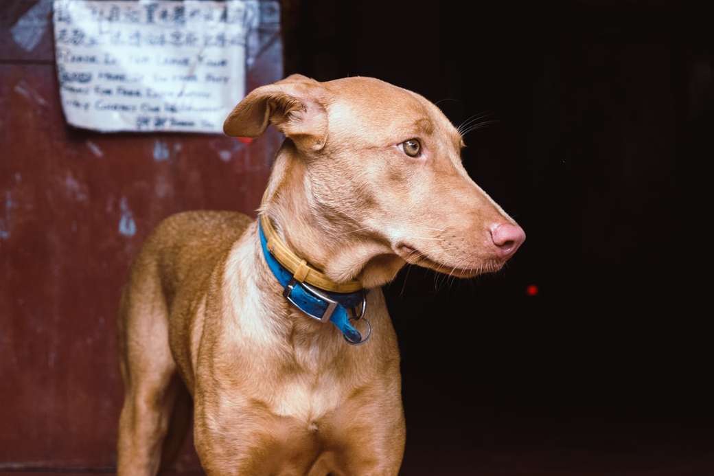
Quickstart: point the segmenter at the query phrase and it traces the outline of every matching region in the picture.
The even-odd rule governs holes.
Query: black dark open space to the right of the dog
[[[286,73],[498,120],[464,164],[526,243],[495,276],[386,287],[405,474],[714,474],[707,218],[678,188],[713,157],[712,30],[678,2],[542,3],[305,2],[286,41]]]

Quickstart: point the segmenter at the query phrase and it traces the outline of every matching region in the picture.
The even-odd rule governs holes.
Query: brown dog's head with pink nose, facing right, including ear
[[[224,131],[275,125],[299,162],[328,276],[366,287],[407,262],[458,277],[501,269],[523,229],[468,177],[463,140],[441,110],[378,79],[293,75],[252,91]]]

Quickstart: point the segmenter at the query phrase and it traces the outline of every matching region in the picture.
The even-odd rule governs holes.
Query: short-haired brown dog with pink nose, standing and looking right
[[[401,377],[379,287],[406,263],[459,277],[495,271],[525,239],[466,174],[457,129],[418,94],[293,75],[248,94],[224,129],[257,137],[269,124],[287,139],[260,210],[275,227],[268,247],[297,259],[286,266],[293,284],[372,289],[371,338],[350,345],[283,297],[260,220],[169,217],[121,299],[120,475],[153,475],[170,460],[191,400],[209,475],[396,475]],[[352,322],[366,335],[367,322]]]

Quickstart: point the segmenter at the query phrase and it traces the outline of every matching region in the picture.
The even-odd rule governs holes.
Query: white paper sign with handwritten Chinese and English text
[[[113,131],[221,132],[243,98],[257,0],[54,0],[67,122]]]

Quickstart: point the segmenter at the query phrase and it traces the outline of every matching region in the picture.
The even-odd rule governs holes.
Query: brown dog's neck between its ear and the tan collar
[[[306,159],[286,141],[262,205],[283,242],[335,282],[358,279],[364,287],[377,287],[391,281],[403,260],[383,242],[356,233],[360,227],[356,219],[326,218],[311,196],[308,174]]]

